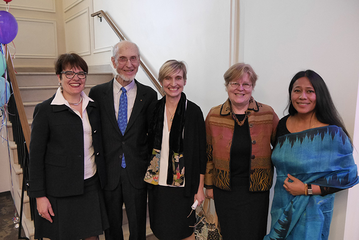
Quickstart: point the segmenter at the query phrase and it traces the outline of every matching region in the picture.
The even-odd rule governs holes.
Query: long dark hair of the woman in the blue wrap
[[[330,93],[327,85],[324,83],[323,78],[313,70],[300,71],[295,74],[292,78],[292,81],[289,85],[289,103],[286,109],[291,116],[294,116],[298,111],[294,108],[291,101],[291,94],[293,90],[294,83],[301,77],[307,77],[309,82],[313,85],[315,95],[316,95],[316,104],[314,108],[315,116],[317,119],[329,125],[336,125],[341,127],[346,135],[350,138],[349,133],[346,131],[344,126],[343,119],[340,117],[338,111],[336,110],[333,100],[330,97]],[[351,140],[351,138],[350,138]]]

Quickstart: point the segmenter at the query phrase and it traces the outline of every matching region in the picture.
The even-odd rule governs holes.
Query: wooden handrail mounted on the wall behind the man
[[[112,28],[112,30],[116,33],[116,35],[118,36],[119,39],[121,39],[121,41],[123,40],[127,40],[123,34],[121,33],[121,31],[119,30],[119,28],[115,25],[115,23],[110,19],[110,17],[102,10],[100,10],[99,12],[93,13],[91,15],[91,17],[96,17],[98,16],[100,18],[100,21],[102,22],[102,18],[104,18],[106,20],[106,22],[110,25],[110,27]],[[140,67],[142,68],[142,70],[145,72],[145,74],[147,75],[147,77],[150,79],[151,83],[153,84],[153,86],[157,89],[157,91],[161,94],[161,96],[164,96],[164,91],[162,90],[161,86],[158,84],[157,79],[153,76],[152,72],[147,68],[146,64],[141,60],[140,61]]]

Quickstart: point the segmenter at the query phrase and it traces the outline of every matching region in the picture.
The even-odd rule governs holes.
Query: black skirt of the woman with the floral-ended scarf
[[[158,239],[179,240],[194,233],[196,212],[190,213],[195,196],[185,197],[184,191],[182,187],[159,185],[148,189],[150,224]]]

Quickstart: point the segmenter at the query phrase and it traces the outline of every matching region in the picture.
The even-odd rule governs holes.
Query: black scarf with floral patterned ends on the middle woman
[[[186,101],[186,95],[182,93],[181,99],[177,104],[172,120],[171,130],[169,132],[169,154],[166,183],[172,186],[182,186],[185,180],[183,129],[185,126]],[[144,181],[153,185],[158,185],[165,104],[166,96],[159,100],[154,107],[148,131],[148,142],[152,151]]]

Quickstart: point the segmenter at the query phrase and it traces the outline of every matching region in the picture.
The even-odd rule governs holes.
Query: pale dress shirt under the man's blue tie
[[[116,81],[116,77],[115,77],[115,79],[114,79],[114,105],[115,105],[116,119],[118,118],[118,115],[119,115],[119,105],[120,105],[120,96],[122,94],[122,90],[121,90],[122,87],[123,86],[119,82]],[[127,94],[127,122],[128,122],[131,117],[133,105],[135,104],[135,99],[136,99],[136,95],[137,95],[137,85],[136,85],[135,81],[132,80],[132,82],[124,88],[127,91],[126,94]]]

